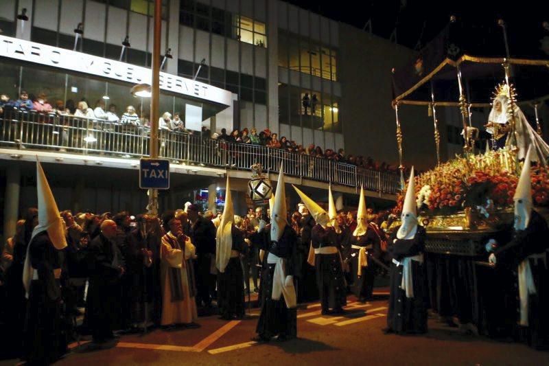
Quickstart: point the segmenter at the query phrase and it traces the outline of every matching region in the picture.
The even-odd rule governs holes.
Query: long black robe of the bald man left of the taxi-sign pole
[[[115,260],[116,258],[116,260]],[[101,233],[89,244],[89,288],[86,306],[93,340],[113,338],[120,327],[120,271],[124,259],[117,244]]]

